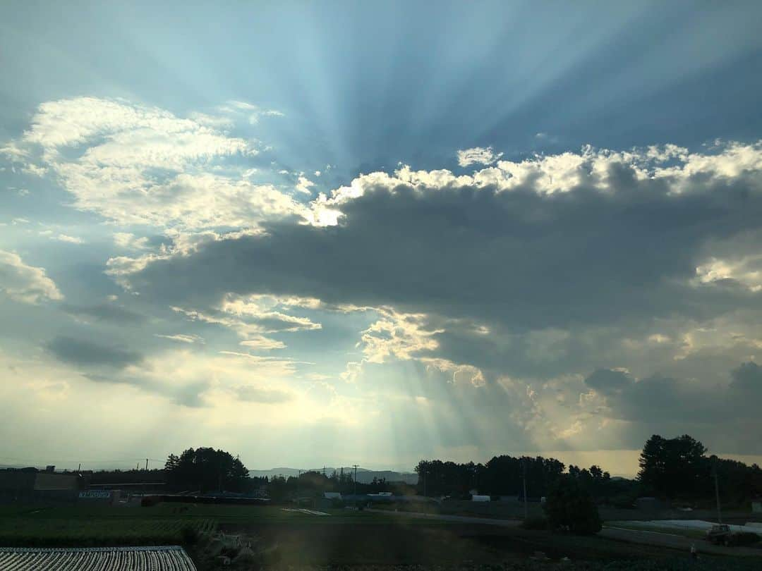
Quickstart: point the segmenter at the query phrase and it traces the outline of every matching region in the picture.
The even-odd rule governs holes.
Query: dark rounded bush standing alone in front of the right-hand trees
[[[559,477],[543,507],[553,531],[592,535],[603,527],[593,498],[575,477],[568,474]]]

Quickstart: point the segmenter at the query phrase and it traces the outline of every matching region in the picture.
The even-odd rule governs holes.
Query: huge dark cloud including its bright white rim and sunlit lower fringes
[[[762,346],[762,145],[739,145],[365,174],[315,199],[325,225],[267,222],[133,260],[122,277],[142,298],[203,308],[197,319],[225,321],[253,349],[280,346],[255,337],[267,330],[315,327],[302,311],[346,308],[370,320],[339,375],[347,386],[369,386],[376,366],[420,365],[463,391],[484,416],[475,424],[498,422],[493,402],[527,400],[515,422],[543,445],[637,445],[650,421],[687,421],[680,399],[703,407],[722,372]],[[649,416],[658,390],[671,396]]]

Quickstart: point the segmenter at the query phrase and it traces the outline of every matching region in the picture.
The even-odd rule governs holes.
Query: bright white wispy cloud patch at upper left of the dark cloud
[[[14,157],[53,172],[76,208],[120,225],[248,228],[303,210],[242,177],[234,159],[256,155],[254,143],[199,119],[126,100],[49,101],[13,143],[24,149]]]

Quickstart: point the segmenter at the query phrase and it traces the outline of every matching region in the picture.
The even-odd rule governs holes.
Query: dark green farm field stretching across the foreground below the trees
[[[579,538],[463,522],[401,518],[391,513],[320,509],[328,515],[287,511],[279,506],[215,506],[163,503],[152,507],[56,506],[0,509],[0,547],[97,547],[186,545],[198,569],[215,569],[189,532],[219,532],[253,546],[262,563],[274,567],[328,566],[507,566],[537,568],[542,551],[549,561],[568,557],[580,569],[637,569],[610,566],[642,562],[642,569],[687,560],[684,550],[629,544],[604,537]],[[191,541],[191,545],[187,542]],[[532,561],[533,566],[523,567]],[[704,559],[716,569],[754,569],[737,557]],[[640,563],[639,563],[640,564]],[[543,563],[544,565],[544,563]],[[652,565],[652,566],[648,566]],[[669,564],[671,565],[671,563]],[[604,566],[604,567],[601,567]],[[575,568],[575,567],[570,567]],[[701,567],[694,567],[701,569]]]

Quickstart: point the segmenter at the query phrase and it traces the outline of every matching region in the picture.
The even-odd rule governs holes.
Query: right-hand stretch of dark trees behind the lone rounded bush
[[[762,497],[762,469],[757,464],[707,455],[706,446],[690,435],[667,439],[653,435],[643,446],[634,480],[612,478],[600,466],[581,468],[555,458],[495,456],[486,464],[421,460],[415,467],[418,493],[466,497],[548,496],[562,476],[571,477],[599,502],[629,507],[639,496],[697,501],[715,493],[715,474],[723,502],[740,505]]]

